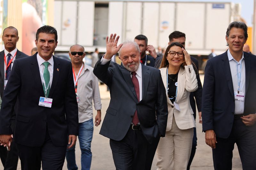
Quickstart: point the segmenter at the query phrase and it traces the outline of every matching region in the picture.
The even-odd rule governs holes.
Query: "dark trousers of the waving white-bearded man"
[[[141,130],[133,129],[121,141],[110,139],[116,170],[150,170],[159,139],[149,144]]]

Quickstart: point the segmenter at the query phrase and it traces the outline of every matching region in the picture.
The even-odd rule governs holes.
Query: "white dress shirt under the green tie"
[[[41,81],[42,81],[42,84],[43,84],[43,79],[42,79],[42,75],[44,75],[44,62],[46,62],[42,57],[40,57],[40,55],[37,53],[36,55],[36,59],[37,59],[37,63],[38,63],[38,66],[39,66],[39,71],[40,71],[40,78],[41,78]],[[47,62],[49,62],[50,64],[48,65],[48,71],[50,73],[50,87],[51,88],[51,85],[52,85],[52,74],[53,74],[53,57],[51,57]],[[47,87],[47,85],[46,85]]]

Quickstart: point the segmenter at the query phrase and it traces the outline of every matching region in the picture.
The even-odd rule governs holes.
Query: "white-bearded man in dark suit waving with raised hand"
[[[167,124],[167,100],[160,74],[140,63],[140,48],[119,36],[106,39],[107,52],[94,74],[110,89],[110,103],[100,134],[110,139],[116,169],[150,170],[160,137]],[[110,62],[119,51],[123,65]]]

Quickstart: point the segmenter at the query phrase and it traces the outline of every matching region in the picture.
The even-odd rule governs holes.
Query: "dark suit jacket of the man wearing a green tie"
[[[68,135],[78,135],[78,107],[71,62],[53,56],[53,78],[49,92],[52,107],[38,106],[44,97],[36,55],[15,60],[4,90],[0,111],[0,134],[12,134],[10,115],[18,97],[14,140],[38,147],[44,143],[46,128],[55,146],[67,145]]]

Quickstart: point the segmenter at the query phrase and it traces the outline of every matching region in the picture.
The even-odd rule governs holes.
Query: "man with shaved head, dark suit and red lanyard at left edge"
[[[15,59],[27,57],[28,55],[22,53],[16,48],[16,43],[19,41],[18,30],[9,26],[4,29],[2,40],[4,41],[4,50],[0,52],[0,95],[3,97],[3,92],[7,81],[10,77],[13,62]],[[16,108],[12,113],[11,128],[14,130]],[[17,146],[15,143],[12,144],[11,150],[7,154],[7,148],[0,146],[0,157],[3,163],[4,169],[16,170],[19,160]]]

